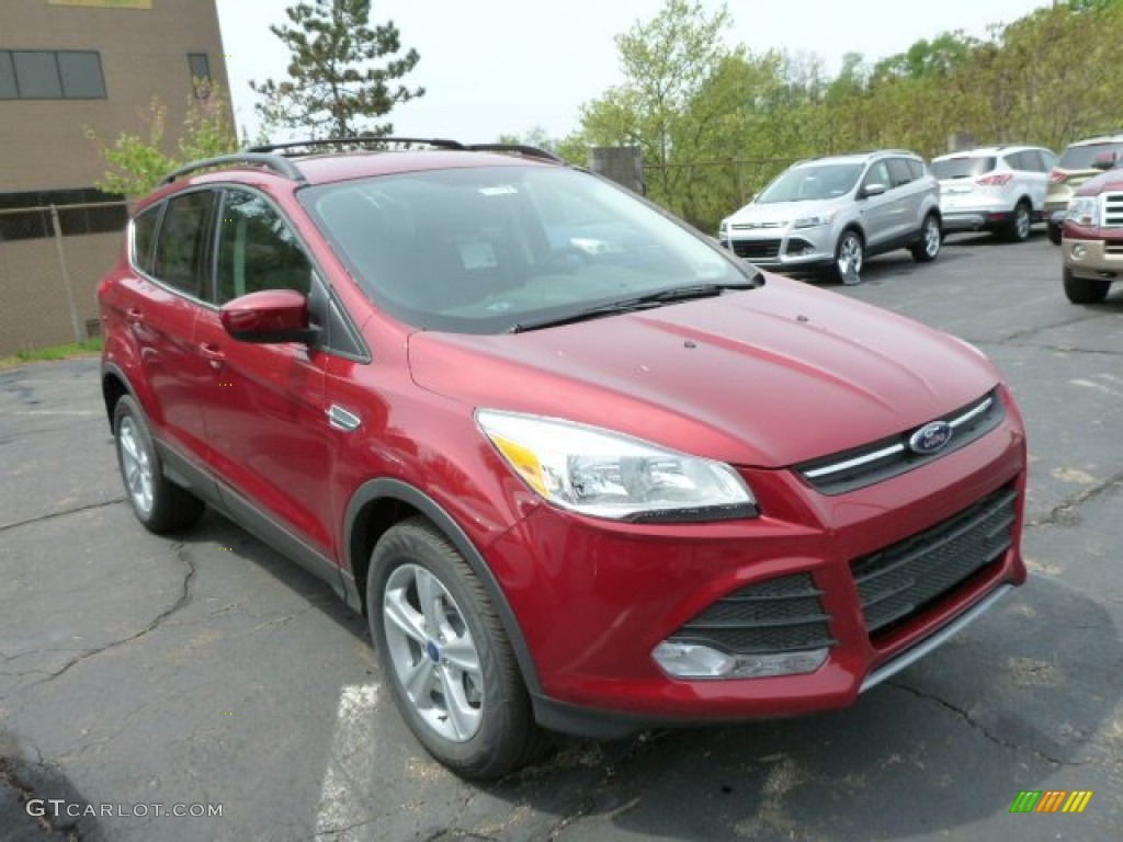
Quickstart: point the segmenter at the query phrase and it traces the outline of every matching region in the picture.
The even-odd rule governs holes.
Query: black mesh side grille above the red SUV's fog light
[[[747,585],[695,615],[672,637],[729,655],[800,652],[834,644],[810,574]]]

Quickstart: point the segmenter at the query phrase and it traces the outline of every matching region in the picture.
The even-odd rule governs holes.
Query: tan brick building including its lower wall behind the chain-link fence
[[[147,137],[155,97],[171,152],[189,98],[213,95],[200,77],[231,113],[214,0],[0,0],[0,355],[95,330],[125,222],[121,207],[16,209],[110,198],[93,189],[106,164],[86,130]]]

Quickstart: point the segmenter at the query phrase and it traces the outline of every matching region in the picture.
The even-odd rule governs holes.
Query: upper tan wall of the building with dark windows
[[[158,97],[172,134],[203,73],[229,97],[214,0],[3,0],[0,193],[92,185],[84,129],[140,132]]]

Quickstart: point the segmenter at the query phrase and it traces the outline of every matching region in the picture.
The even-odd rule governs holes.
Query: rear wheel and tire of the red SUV
[[[145,529],[156,534],[177,532],[202,516],[203,502],[164,476],[148,422],[129,395],[113,408],[113,440],[125,493]]]

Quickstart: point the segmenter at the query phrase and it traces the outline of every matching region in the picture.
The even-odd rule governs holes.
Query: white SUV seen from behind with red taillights
[[[943,230],[994,231],[1014,242],[1044,219],[1057,156],[1040,146],[984,146],[932,159]]]

